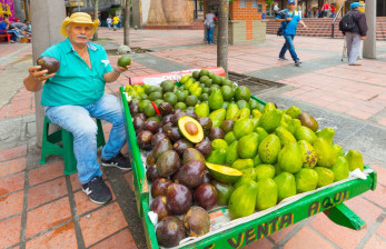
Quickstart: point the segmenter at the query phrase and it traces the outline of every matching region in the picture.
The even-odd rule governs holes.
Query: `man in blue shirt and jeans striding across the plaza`
[[[296,11],[295,9],[296,9],[295,0],[288,0],[287,9],[281,10],[279,12],[279,14],[276,17],[276,21],[281,22],[281,26],[280,26],[281,30],[279,29],[280,32],[278,31],[278,34],[283,34],[285,39],[285,43],[279,53],[279,60],[288,60],[285,56],[287,50],[289,50],[289,53],[293,60],[295,61],[295,66],[299,66],[301,62],[295,51],[294,38],[296,34],[296,28],[298,22],[305,29],[307,29],[307,26],[301,20],[299,12]]]

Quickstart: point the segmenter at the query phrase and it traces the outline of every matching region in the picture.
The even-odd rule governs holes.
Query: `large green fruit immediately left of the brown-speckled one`
[[[290,142],[285,146],[279,152],[278,162],[283,171],[290,173],[298,172],[303,167],[303,157],[299,145],[297,142]]]

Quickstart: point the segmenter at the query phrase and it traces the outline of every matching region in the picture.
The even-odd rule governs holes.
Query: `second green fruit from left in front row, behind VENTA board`
[[[278,189],[276,182],[270,178],[257,182],[256,209],[266,210],[277,203]]]

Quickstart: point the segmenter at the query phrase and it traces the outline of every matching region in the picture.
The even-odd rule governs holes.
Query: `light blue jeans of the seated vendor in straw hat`
[[[109,140],[102,149],[102,159],[116,157],[126,142],[123,112],[117,97],[103,94],[89,106],[44,107],[52,123],[73,135],[73,153],[77,158],[78,178],[85,185],[102,171],[97,161],[97,123],[91,119],[103,119],[112,123]]]

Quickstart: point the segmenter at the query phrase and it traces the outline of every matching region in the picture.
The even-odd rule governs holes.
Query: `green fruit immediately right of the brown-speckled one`
[[[314,149],[318,156],[318,161],[316,162],[319,167],[331,168],[336,162],[335,150],[329,142],[324,138],[317,138],[314,142]]]

